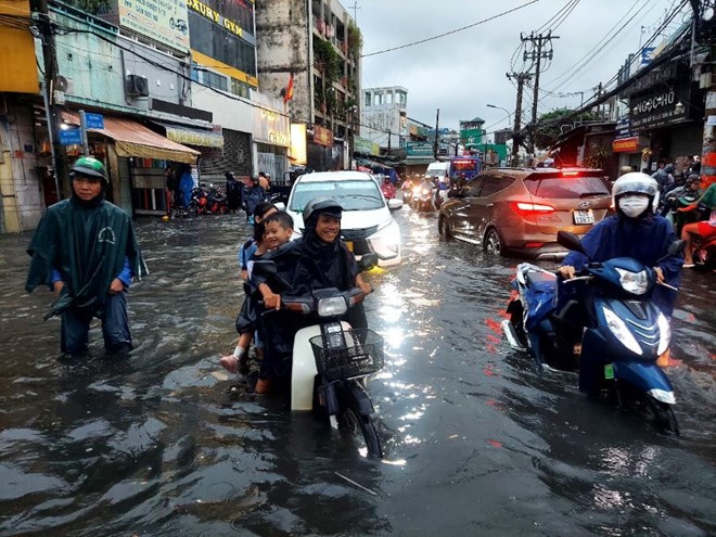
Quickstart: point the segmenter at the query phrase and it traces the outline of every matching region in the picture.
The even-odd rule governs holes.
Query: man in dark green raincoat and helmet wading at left
[[[108,180],[100,161],[78,158],[69,177],[72,196],[48,208],[27,248],[25,289],[44,284],[57,296],[44,318],[62,316],[62,353],[87,349],[93,317],[102,321],[106,350],[127,353],[127,290],[148,273],[135,229],[127,213],[104,200]]]

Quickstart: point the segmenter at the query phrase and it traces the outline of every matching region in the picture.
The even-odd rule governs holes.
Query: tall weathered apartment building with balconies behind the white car
[[[291,123],[305,125],[305,162],[296,154],[293,164],[349,167],[362,47],[353,17],[337,0],[257,0],[256,31],[261,91],[281,97]]]

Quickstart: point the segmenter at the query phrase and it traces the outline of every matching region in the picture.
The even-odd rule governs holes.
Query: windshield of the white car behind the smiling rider
[[[291,199],[291,210],[302,213],[308,202],[319,196],[337,197],[343,210],[371,210],[385,206],[375,181],[299,182]]]

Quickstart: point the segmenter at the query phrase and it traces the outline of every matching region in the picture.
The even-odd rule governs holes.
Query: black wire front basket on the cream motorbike
[[[372,330],[347,330],[311,337],[316,369],[331,381],[366,376],[383,369],[383,337]]]

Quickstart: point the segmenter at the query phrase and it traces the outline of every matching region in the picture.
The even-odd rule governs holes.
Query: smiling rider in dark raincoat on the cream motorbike
[[[261,316],[259,332],[266,342],[266,355],[261,361],[257,392],[269,392],[273,381],[290,376],[293,337],[301,328],[315,323],[310,316],[280,310],[281,295],[302,296],[329,287],[338,291],[359,287],[366,294],[371,292],[370,284],[358,273],[355,256],[341,241],[342,215],[343,207],[335,197],[311,200],[303,212],[304,235],[264,257],[276,264],[277,276],[290,289],[277,287],[279,278],[272,281],[256,276],[252,278],[252,291],[260,293],[259,299],[264,301],[265,308],[277,310],[272,315]],[[368,327],[362,304],[356,305],[346,315],[353,328]]]

